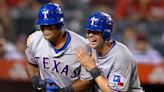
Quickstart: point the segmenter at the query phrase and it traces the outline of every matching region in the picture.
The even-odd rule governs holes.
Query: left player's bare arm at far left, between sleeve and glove
[[[26,63],[26,72],[28,74],[29,79],[31,79],[34,75],[38,75],[38,68],[35,65],[32,65],[30,63]]]

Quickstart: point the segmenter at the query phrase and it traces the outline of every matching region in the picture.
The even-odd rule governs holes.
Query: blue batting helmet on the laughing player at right
[[[88,25],[85,30],[102,32],[103,39],[109,40],[113,29],[113,20],[104,12],[95,12],[89,16]]]

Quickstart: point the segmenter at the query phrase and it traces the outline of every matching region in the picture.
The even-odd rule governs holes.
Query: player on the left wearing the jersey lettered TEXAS
[[[76,48],[86,47],[86,39],[65,29],[63,13],[58,4],[48,3],[39,10],[37,25],[41,31],[32,33],[25,50],[27,73],[36,92],[85,92],[91,81],[80,80],[80,62]]]

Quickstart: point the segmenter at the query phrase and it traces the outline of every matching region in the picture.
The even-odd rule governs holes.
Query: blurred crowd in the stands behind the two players
[[[164,0],[0,0],[0,58],[24,59],[26,39],[42,4],[62,6],[65,27],[86,37],[88,15],[103,11],[114,19],[113,39],[125,43],[137,63],[164,63]]]

